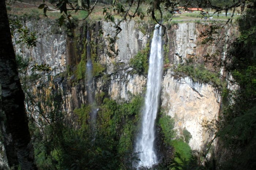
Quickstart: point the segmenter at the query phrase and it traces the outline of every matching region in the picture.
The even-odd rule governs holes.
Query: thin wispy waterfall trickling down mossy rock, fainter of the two
[[[91,104],[91,126],[93,130],[95,129],[96,126],[96,116],[97,116],[97,108],[94,106],[94,86],[93,86],[93,76],[92,76],[92,70],[93,70],[93,64],[91,61],[91,46],[90,46],[90,30],[88,29],[87,26],[87,31],[86,31],[86,57],[87,57],[87,63],[86,63],[86,78],[87,78],[87,96],[89,100],[89,104]]]

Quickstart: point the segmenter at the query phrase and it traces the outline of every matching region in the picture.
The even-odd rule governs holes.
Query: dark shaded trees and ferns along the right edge
[[[238,88],[230,91],[229,104],[223,108],[217,137],[233,155],[221,163],[222,169],[253,169],[256,166],[256,1],[248,4],[238,20],[241,35],[227,55],[226,70]]]

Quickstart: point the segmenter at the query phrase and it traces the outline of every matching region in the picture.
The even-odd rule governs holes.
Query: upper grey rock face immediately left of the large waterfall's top
[[[107,51],[101,58],[101,62],[107,64],[107,74],[115,72],[115,64],[122,63],[124,68],[129,67],[129,60],[146,47],[148,35],[143,35],[139,29],[136,29],[136,24],[134,21],[122,22],[120,24],[122,31],[118,33],[116,41],[114,41],[113,48],[116,51],[114,54],[109,49],[110,40],[116,35],[116,29],[113,27],[111,22],[102,22],[103,37],[106,41]],[[113,56],[109,56],[109,53]]]

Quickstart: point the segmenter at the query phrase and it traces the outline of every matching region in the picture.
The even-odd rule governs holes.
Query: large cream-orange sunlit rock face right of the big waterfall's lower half
[[[175,119],[177,135],[184,129],[191,134],[192,150],[205,149],[214,135],[207,132],[204,123],[218,118],[219,92],[210,84],[193,82],[189,77],[174,79],[167,70],[162,81],[162,108]]]

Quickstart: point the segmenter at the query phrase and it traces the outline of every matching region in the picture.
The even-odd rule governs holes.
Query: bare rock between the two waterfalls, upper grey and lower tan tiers
[[[122,31],[118,33],[117,40],[114,43],[116,54],[109,56],[103,54],[101,63],[105,64],[106,73],[110,74],[110,83],[108,94],[116,100],[128,101],[132,95],[141,94],[146,84],[146,78],[142,75],[132,74],[132,68],[129,66],[130,59],[140,50],[146,47],[148,35],[143,35],[136,29],[134,21],[122,22],[120,25]],[[109,51],[109,36],[116,34],[116,29],[111,22],[102,22],[103,37],[106,40],[105,51]],[[103,80],[98,79],[98,91],[102,89]]]

